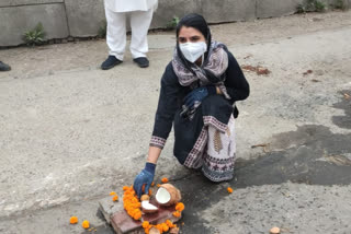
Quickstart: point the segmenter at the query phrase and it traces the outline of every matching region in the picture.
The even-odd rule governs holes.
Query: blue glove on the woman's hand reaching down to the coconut
[[[145,194],[148,194],[154,182],[155,168],[156,165],[154,163],[146,163],[145,168],[135,177],[133,188],[138,198],[143,195],[143,185],[145,185]]]

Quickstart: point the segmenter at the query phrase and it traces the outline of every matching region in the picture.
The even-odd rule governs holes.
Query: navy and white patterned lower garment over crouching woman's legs
[[[206,97],[192,119],[174,117],[174,156],[213,182],[233,178],[235,108],[220,95]]]

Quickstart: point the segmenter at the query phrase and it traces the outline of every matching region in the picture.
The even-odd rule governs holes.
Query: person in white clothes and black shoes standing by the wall
[[[123,62],[126,47],[126,16],[131,17],[133,61],[140,68],[149,67],[147,33],[151,24],[158,0],[104,0],[107,22],[106,43],[110,49],[107,59],[101,65],[107,70]]]

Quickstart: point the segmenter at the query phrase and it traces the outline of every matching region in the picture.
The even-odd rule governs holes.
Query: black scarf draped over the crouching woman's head
[[[205,59],[207,58],[207,54],[210,50],[210,46],[211,46],[211,31],[208,27],[207,22],[205,21],[205,19],[196,13],[191,13],[191,14],[186,14],[185,16],[183,16],[176,28],[176,35],[177,35],[177,51],[178,51],[178,56],[180,57],[180,59],[182,60],[182,62],[184,63],[185,68],[189,69],[191,72],[193,72],[193,70],[191,69],[190,62],[184,58],[182,51],[179,48],[179,42],[178,42],[178,37],[179,37],[179,32],[180,30],[185,26],[185,27],[194,27],[196,30],[199,30],[205,37],[206,42],[207,42],[207,52],[205,52]],[[194,73],[194,72],[193,72]]]

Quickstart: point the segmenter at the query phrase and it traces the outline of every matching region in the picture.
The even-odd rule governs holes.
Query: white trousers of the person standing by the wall
[[[123,60],[126,46],[126,16],[131,15],[133,58],[146,57],[148,52],[147,32],[151,24],[154,9],[148,11],[113,12],[105,8],[107,21],[106,42],[110,55]]]

